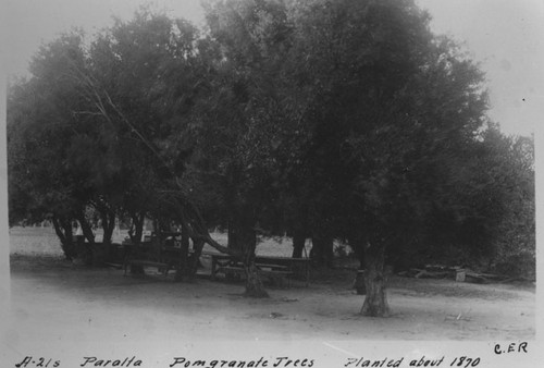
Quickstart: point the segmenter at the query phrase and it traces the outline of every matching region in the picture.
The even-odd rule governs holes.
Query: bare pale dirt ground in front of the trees
[[[150,339],[208,340],[532,340],[535,291],[530,284],[469,284],[391,277],[393,315],[358,315],[363,296],[353,271],[313,273],[309,287],[242,296],[243,284],[199,278],[124,277],[61,257],[12,255],[12,341],[82,343]]]

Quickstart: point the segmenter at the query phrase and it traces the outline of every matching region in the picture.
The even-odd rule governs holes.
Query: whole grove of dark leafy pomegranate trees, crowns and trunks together
[[[265,291],[258,234],[367,270],[362,312],[386,315],[384,265],[534,270],[532,138],[486,116],[484,75],[412,0],[236,0],[206,25],[143,9],[88,39],[44,45],[10,86],[10,221],[72,222],[111,243],[146,217],[239,257]],[[227,230],[228,245],[209,229]]]

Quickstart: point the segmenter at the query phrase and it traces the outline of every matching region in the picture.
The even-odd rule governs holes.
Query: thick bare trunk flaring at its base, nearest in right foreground
[[[371,244],[364,249],[364,285],[367,297],[361,308],[361,315],[370,317],[386,317],[390,305],[386,294],[386,278],[384,272],[385,247],[382,244]]]

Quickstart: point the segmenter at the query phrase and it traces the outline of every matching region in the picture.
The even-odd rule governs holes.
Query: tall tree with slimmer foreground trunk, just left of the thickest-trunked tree
[[[276,212],[286,119],[277,76],[289,50],[287,8],[274,1],[217,1],[207,8],[207,24],[221,53],[212,94],[202,106],[199,149],[221,183],[228,246],[244,254],[247,293],[264,296],[252,259],[257,228],[270,229]]]

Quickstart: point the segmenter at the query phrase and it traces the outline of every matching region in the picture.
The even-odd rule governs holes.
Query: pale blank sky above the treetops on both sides
[[[544,0],[417,0],[431,27],[463,42],[486,73],[489,115],[506,134],[530,135],[544,116]],[[199,0],[3,0],[2,63],[24,75],[39,45],[72,27],[88,35],[129,20],[143,3],[202,22]],[[3,8],[3,9],[2,9]]]

